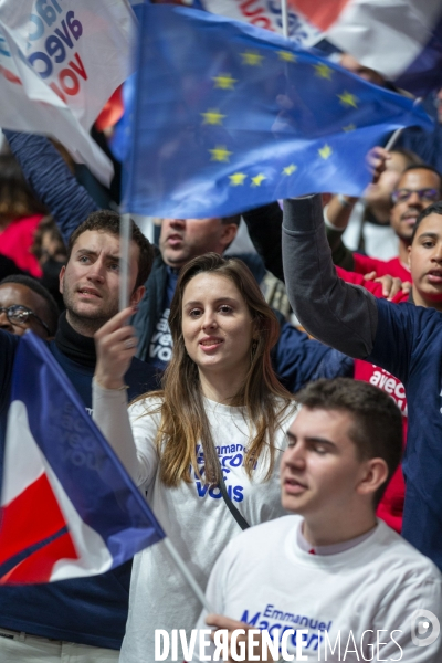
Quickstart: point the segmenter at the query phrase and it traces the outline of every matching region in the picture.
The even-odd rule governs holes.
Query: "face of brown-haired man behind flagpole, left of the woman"
[[[143,296],[144,286],[135,288],[138,275],[139,249],[130,242],[129,292],[130,304]],[[60,273],[67,320],[87,323],[91,332],[98,329],[118,313],[119,296],[119,236],[98,230],[86,230],[75,242],[66,266]]]

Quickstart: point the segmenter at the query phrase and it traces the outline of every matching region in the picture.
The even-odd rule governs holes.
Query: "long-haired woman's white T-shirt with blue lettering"
[[[146,414],[146,406],[158,401],[147,399],[129,409],[137,454],[146,480],[147,499],[204,591],[210,571],[229,541],[241,529],[229,512],[219,488],[209,488],[196,473],[191,483],[176,488],[165,487],[158,476],[158,451],[155,443],[160,413]],[[224,482],[233,504],[250,525],[257,525],[283,515],[280,496],[280,460],[285,446],[285,431],[294,414],[293,407],[275,435],[275,466],[271,478],[263,483],[267,463],[260,457],[251,481],[243,467],[244,449],[250,439],[243,408],[231,408],[204,399],[206,413],[223,469]],[[199,466],[203,465],[198,448]],[[155,630],[194,628],[201,604],[169,557],[162,543],[139,552],[134,558],[129,594],[129,615],[123,642],[122,663],[155,661]],[[182,660],[179,659],[179,660]]]

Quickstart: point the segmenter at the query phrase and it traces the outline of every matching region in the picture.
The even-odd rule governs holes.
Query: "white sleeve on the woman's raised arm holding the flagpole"
[[[144,484],[152,476],[158,459],[156,425],[152,425],[151,418],[145,414],[141,422],[138,403],[127,410],[126,390],[103,389],[95,380],[92,383],[92,408],[95,423],[134,482],[138,486]]]

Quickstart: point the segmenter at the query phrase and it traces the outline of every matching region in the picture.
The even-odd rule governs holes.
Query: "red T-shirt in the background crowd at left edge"
[[[31,253],[31,246],[36,227],[42,219],[42,214],[14,219],[0,233],[0,253],[13,260],[20,270],[25,270],[36,277],[41,277],[42,271],[35,255]]]

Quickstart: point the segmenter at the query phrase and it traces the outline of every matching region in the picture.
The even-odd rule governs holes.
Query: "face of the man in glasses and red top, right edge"
[[[397,191],[402,192],[406,198],[398,201],[391,209],[391,227],[402,240],[410,240],[413,234],[413,228],[417,218],[422,210],[435,202],[435,200],[425,199],[419,196],[419,191],[434,189],[438,191],[436,200],[440,198],[441,180],[435,172],[431,170],[415,168],[408,170],[400,178]]]

